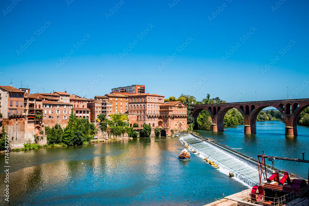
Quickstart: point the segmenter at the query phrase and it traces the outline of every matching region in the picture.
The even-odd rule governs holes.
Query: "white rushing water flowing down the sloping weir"
[[[260,183],[258,167],[250,162],[247,162],[235,155],[216,147],[207,141],[194,137],[191,134],[185,134],[180,137],[180,140],[185,141],[189,148],[195,149],[200,153],[200,157],[207,157],[220,168],[220,172],[228,175],[229,172],[234,173],[236,179],[241,182],[254,186]]]

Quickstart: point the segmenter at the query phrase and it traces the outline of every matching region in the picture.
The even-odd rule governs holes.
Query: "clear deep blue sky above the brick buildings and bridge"
[[[308,1],[281,0],[278,8],[275,0],[69,1],[0,2],[0,85],[12,78],[12,86],[22,81],[32,92],[66,88],[86,90],[93,98],[141,84],[147,93],[165,97],[190,93],[201,100],[210,93],[228,102],[255,101],[255,91],[257,100],[286,99],[289,86],[290,98],[308,98],[309,83],[303,82],[309,76]],[[121,6],[109,14],[115,4]],[[246,34],[250,37],[240,38]],[[31,39],[23,50],[20,45]],[[129,44],[134,47],[120,57]],[[237,50],[223,61],[231,47]],[[173,53],[177,56],[160,71]],[[276,56],[280,59],[261,71]]]

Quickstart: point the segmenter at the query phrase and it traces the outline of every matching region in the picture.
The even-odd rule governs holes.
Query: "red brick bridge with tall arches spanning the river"
[[[266,107],[278,109],[286,123],[286,136],[297,135],[297,119],[301,111],[309,106],[309,99],[287,99],[258,102],[236,102],[220,104],[199,104],[194,107],[192,115],[195,121],[199,113],[205,109],[212,119],[212,131],[223,131],[223,119],[227,111],[237,109],[243,115],[244,133],[256,133],[256,118]]]

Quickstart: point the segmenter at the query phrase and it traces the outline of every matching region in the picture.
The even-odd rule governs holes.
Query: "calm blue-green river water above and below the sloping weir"
[[[299,136],[294,138],[284,136],[280,122],[257,123],[258,133],[252,135],[243,134],[242,125],[226,130],[197,132],[224,140],[220,143],[231,148],[243,148],[237,150],[255,159],[261,150],[284,156],[294,148],[289,153],[292,158],[300,158],[302,151],[309,155],[307,127],[298,127]],[[178,160],[182,149],[179,138],[151,137],[11,152],[10,205],[204,205],[223,193],[248,188],[206,164],[201,156]],[[0,158],[4,168],[4,155]],[[305,169],[285,164],[275,163],[275,167],[307,177],[308,164]],[[0,204],[7,205],[3,199]]]

